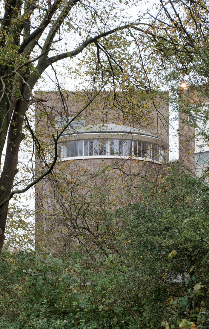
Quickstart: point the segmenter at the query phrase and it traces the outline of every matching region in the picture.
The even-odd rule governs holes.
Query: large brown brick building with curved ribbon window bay
[[[45,156],[36,157],[37,175],[53,159],[52,135],[85,108],[90,98],[81,92],[63,96],[44,93],[45,102],[35,110],[36,132],[47,149]],[[168,160],[168,111],[166,93],[153,99],[140,94],[131,100],[104,93],[69,125],[58,141],[53,173],[35,187],[35,224],[46,235],[56,232],[50,238],[52,246],[47,240],[48,248],[55,250],[74,239],[74,228],[78,231],[86,222],[91,226],[93,208],[111,211],[143,200],[141,184],[157,180]],[[37,243],[44,244],[43,235],[38,242],[36,234]]]

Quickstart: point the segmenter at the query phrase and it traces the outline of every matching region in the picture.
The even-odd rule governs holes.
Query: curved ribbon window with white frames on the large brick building
[[[158,144],[128,139],[83,139],[58,145],[61,159],[85,156],[134,156],[161,162],[164,150]]]

